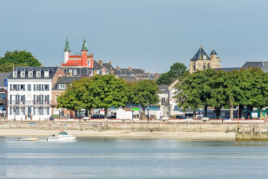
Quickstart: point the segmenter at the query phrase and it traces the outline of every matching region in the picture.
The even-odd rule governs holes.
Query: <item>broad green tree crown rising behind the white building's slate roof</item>
[[[5,63],[13,63],[14,65],[27,64],[27,67],[42,66],[38,59],[31,52],[26,52],[26,50],[7,51],[3,57],[0,57],[0,65]]]

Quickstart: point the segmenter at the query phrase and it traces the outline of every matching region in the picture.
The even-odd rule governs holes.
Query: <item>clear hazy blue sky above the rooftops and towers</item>
[[[166,72],[202,46],[222,67],[268,61],[268,1],[0,1],[0,56],[27,50],[47,66],[85,37],[96,61]],[[155,67],[155,68],[154,68]]]

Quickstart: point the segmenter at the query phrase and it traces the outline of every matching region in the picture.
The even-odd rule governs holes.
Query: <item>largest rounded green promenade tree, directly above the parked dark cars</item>
[[[117,108],[127,103],[125,81],[114,75],[94,75],[86,88],[83,101],[92,104],[94,108],[104,108],[105,119],[108,108]]]

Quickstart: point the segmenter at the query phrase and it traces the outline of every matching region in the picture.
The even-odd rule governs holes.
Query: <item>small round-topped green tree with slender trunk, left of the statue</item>
[[[157,105],[159,103],[158,98],[158,86],[155,81],[139,81],[133,88],[132,103],[142,106],[142,119],[145,119],[145,107],[148,105]]]

